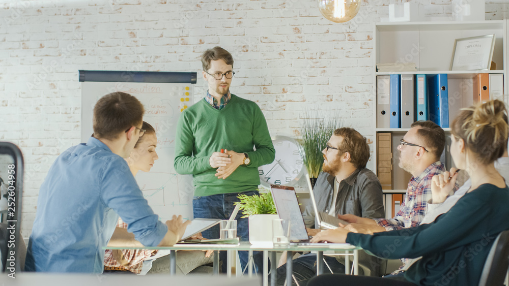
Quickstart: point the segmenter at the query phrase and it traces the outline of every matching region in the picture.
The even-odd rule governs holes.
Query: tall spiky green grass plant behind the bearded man
[[[337,116],[325,118],[319,110],[305,111],[300,124],[302,139],[299,142],[302,162],[306,166],[307,173],[311,178],[311,184],[315,186],[316,179],[322,172],[322,150],[327,145],[334,130],[342,125]]]

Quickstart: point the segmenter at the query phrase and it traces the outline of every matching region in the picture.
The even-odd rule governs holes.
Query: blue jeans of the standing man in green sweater
[[[219,219],[229,219],[230,215],[235,208],[234,203],[238,202],[239,199],[237,196],[240,193],[230,193],[230,194],[219,194],[212,195],[206,197],[193,197],[192,200],[192,211],[194,217],[201,218],[219,218]],[[260,195],[258,191],[252,190],[249,192],[242,193],[247,196],[252,195]],[[249,227],[248,227],[248,218],[241,218],[243,214],[239,211],[235,219],[237,219],[237,236],[240,240],[249,240]],[[219,226],[214,226],[206,231],[202,232],[203,237],[214,239],[219,238]],[[221,271],[224,273],[227,270],[227,252],[219,251],[219,259],[223,261],[221,266]],[[239,259],[240,265],[242,266],[242,270],[247,265],[248,262],[248,252],[247,251],[239,251]],[[253,261],[254,261],[254,269],[260,273],[260,270],[263,268],[263,252],[262,251],[253,251]],[[270,266],[269,266],[270,269]]]

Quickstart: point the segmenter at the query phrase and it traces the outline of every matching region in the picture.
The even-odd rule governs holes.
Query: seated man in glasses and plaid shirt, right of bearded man
[[[440,155],[445,147],[445,132],[434,122],[417,121],[398,145],[399,167],[412,174],[405,200],[393,218],[362,218],[351,214],[339,216],[350,224],[345,229],[355,233],[400,230],[420,225],[431,199],[431,179],[445,171]],[[455,187],[455,190],[458,186]],[[401,260],[405,264],[408,259]],[[402,266],[403,267],[403,266]]]

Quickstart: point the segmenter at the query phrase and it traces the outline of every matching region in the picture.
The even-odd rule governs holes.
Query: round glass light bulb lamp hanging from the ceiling
[[[360,8],[360,0],[317,0],[322,15],[336,23],[351,20]]]

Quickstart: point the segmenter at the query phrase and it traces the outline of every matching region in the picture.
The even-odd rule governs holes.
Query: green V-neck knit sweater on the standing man
[[[253,151],[253,147],[256,151]],[[239,166],[228,178],[218,179],[210,167],[213,152],[228,149],[247,153],[251,162]],[[260,107],[232,94],[221,110],[205,99],[182,112],[175,140],[175,170],[192,174],[194,196],[239,193],[260,184],[258,167],[274,161],[275,150]]]

